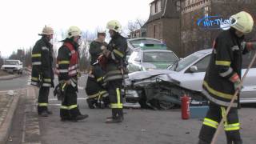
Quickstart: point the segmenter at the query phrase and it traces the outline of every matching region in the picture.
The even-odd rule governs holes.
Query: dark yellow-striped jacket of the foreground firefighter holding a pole
[[[203,94],[210,102],[219,106],[229,106],[234,95],[232,78],[241,79],[242,54],[248,51],[241,46],[242,38],[234,34],[234,29],[223,31],[214,41],[210,64],[203,81]],[[234,101],[238,106],[239,97]]]

